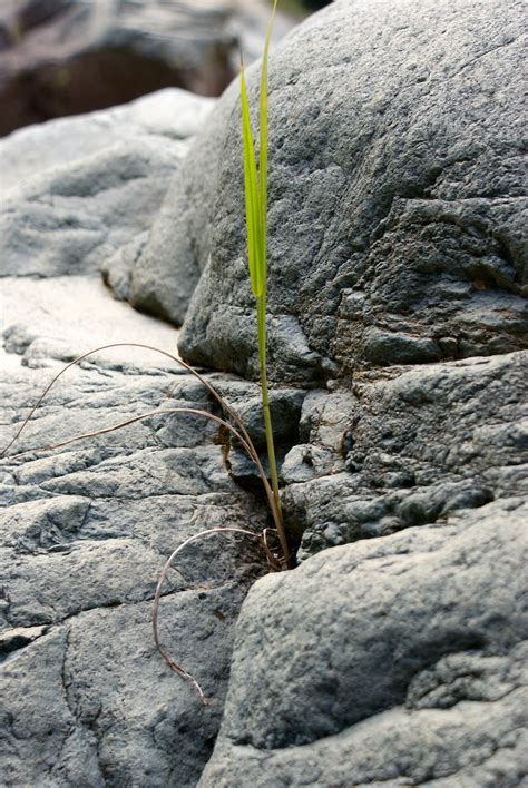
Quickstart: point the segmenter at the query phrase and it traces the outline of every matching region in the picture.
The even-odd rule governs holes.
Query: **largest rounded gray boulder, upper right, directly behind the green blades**
[[[522,35],[519,0],[339,0],[280,45],[270,63],[276,378],[526,346]],[[248,73],[253,109],[258,76]],[[179,324],[203,272],[182,353],[255,375],[241,170],[234,83],[167,195],[131,289]]]

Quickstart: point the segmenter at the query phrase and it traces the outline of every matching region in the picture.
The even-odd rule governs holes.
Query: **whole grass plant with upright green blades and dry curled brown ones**
[[[267,534],[264,531],[262,534],[255,534],[251,531],[239,528],[215,528],[208,529],[206,531],[201,531],[199,533],[187,539],[183,544],[180,544],[167,559],[164,569],[160,573],[156,593],[154,598],[154,611],[153,611],[153,627],[154,627],[154,640],[156,647],[169,666],[169,668],[176,672],[182,678],[190,682],[190,684],[197,690],[203,703],[207,703],[207,698],[204,695],[201,686],[196,679],[188,673],[182,666],[179,666],[172,657],[165,651],[160,643],[159,631],[158,631],[158,613],[159,613],[159,602],[162,597],[162,589],[167,575],[169,568],[174,559],[192,542],[209,536],[212,534],[218,533],[241,533],[256,539],[266,556],[267,564],[271,571],[280,571],[285,568],[290,568],[291,554],[287,543],[287,535],[284,528],[282,510],[281,510],[281,499],[278,491],[278,474],[275,457],[275,446],[273,440],[273,429],[272,429],[272,417],[270,411],[270,396],[268,396],[268,383],[267,383],[267,364],[266,364],[266,279],[267,279],[267,57],[270,49],[270,40],[273,28],[274,14],[277,7],[277,0],[274,0],[272,16],[270,19],[270,24],[267,28],[266,40],[264,45],[263,62],[262,62],[262,73],[261,73],[261,90],[260,90],[260,155],[258,155],[258,167],[255,157],[255,146],[253,141],[253,130],[250,117],[250,107],[247,100],[246,82],[244,66],[241,68],[241,104],[242,104],[242,138],[243,138],[243,160],[244,160],[244,186],[245,186],[245,206],[246,206],[246,230],[247,230],[247,259],[250,268],[250,279],[253,294],[256,299],[256,323],[257,323],[257,337],[258,337],[258,363],[261,370],[261,387],[262,387],[262,407],[263,417],[266,432],[266,443],[268,453],[268,464],[270,464],[270,476],[271,484],[264,472],[258,453],[253,444],[253,441],[235,411],[228,405],[228,403],[221,396],[221,394],[211,385],[211,383],[201,375],[192,366],[183,362],[180,358],[167,353],[166,351],[159,349],[157,347],[151,347],[148,345],[143,345],[138,343],[115,343],[111,345],[105,345],[102,347],[97,347],[88,353],[82,354],[78,358],[70,362],[65,366],[51,381],[51,383],[43,391],[39,397],[37,404],[31,408],[29,415],[22,422],[21,426],[17,431],[14,437],[4,447],[0,456],[4,456],[13,443],[18,440],[26,425],[30,421],[33,413],[42,403],[43,398],[56,384],[56,382],[63,375],[71,366],[82,362],[88,356],[106,351],[113,347],[141,347],[145,349],[150,349],[160,353],[168,358],[173,359],[179,366],[183,366],[187,372],[198,378],[198,381],[207,388],[209,394],[218,402],[222,406],[225,418],[222,418],[207,411],[192,408],[192,407],[175,407],[175,408],[160,408],[158,411],[151,411],[149,413],[144,413],[139,416],[134,416],[125,422],[115,424],[108,427],[96,430],[90,433],[85,433],[84,435],[77,435],[67,441],[60,443],[50,444],[47,446],[40,446],[39,449],[33,449],[20,454],[10,455],[9,460],[22,457],[27,454],[33,453],[36,451],[50,451],[61,449],[77,441],[86,440],[89,437],[95,437],[97,435],[102,435],[105,433],[119,430],[129,424],[134,424],[138,421],[145,418],[153,418],[160,415],[177,415],[177,414],[194,414],[203,416],[205,418],[212,420],[218,425],[226,429],[231,435],[233,435],[242,445],[248,457],[256,465],[258,475],[263,483],[267,501],[272,511],[275,530],[278,536],[281,545],[281,554],[274,554],[267,544]]]

